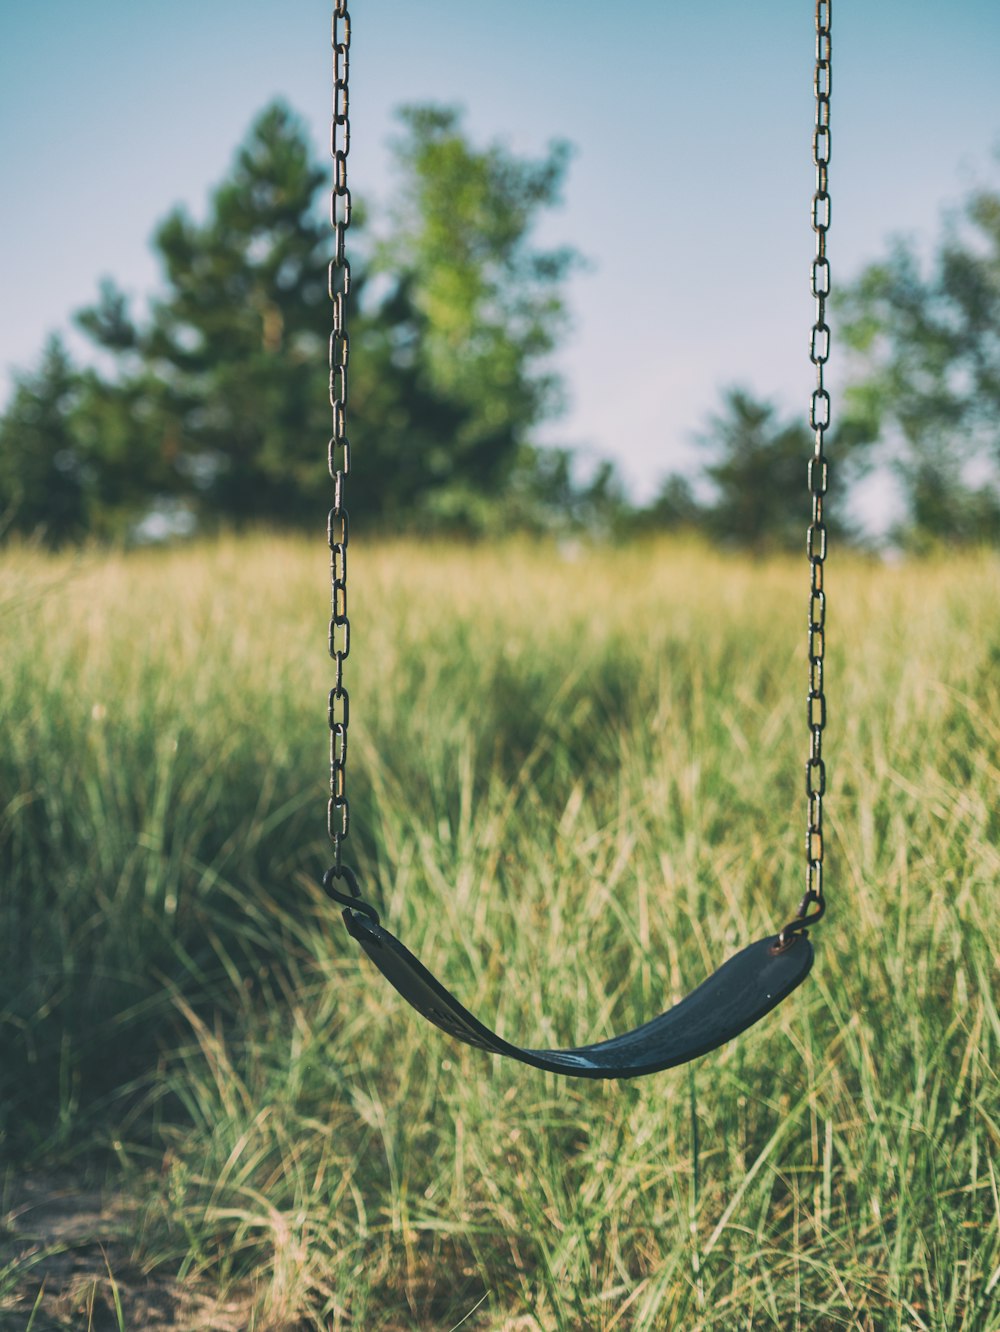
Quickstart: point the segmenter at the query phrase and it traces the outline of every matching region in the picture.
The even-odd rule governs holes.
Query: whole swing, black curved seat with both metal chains
[[[578,1046],[571,1050],[534,1050],[514,1046],[498,1036],[459,1003],[427,971],[423,963],[382,926],[375,908],[364,900],[353,870],[341,860],[341,844],[349,829],[345,777],[349,698],[348,690],[344,687],[344,662],[350,651],[350,623],[348,619],[348,511],[344,496],[345,480],[350,470],[350,444],[346,434],[349,338],[345,320],[350,290],[350,264],[345,256],[345,233],[350,225],[350,190],[348,189],[350,16],[346,0],[336,0],[333,16],[333,121],[330,131],[334,163],[334,185],[330,197],[330,222],[334,232],[334,257],[330,262],[333,437],[329,444],[329,469],[333,477],[334,496],[328,523],[332,583],[329,651],[334,662],[334,685],[329,695],[330,799],[328,831],[333,844],[333,864],[324,876],[324,888],[344,908],[348,932],[417,1012],[469,1046],[477,1046],[494,1055],[506,1055],[550,1072],[574,1078],[638,1078],[643,1074],[654,1074],[687,1063],[724,1044],[759,1022],[786,995],[802,984],[812,966],[808,927],[818,922],[826,910],[823,895],[823,795],[826,791],[823,730],[827,721],[827,705],[823,689],[826,646],[823,566],[827,555],[827,527],[823,522],[823,500],[828,480],[824,433],[830,425],[830,394],[823,382],[823,370],[830,356],[830,326],[826,322],[826,305],[830,297],[827,166],[830,163],[831,4],[832,0],[816,0],[816,120],[812,136],[812,159],[816,166],[816,190],[812,198],[812,228],[816,233],[812,296],[816,301],[816,317],[810,346],[810,360],[816,366],[816,388],[810,409],[815,446],[808,464],[811,521],[806,543],[810,562],[806,892],[794,919],[776,935],[758,939],[736,952],[686,999],[651,1022],[610,1040],[601,1040],[590,1046]]]

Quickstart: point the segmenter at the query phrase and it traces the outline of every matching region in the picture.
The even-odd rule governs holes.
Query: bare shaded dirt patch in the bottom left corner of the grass
[[[246,1332],[250,1301],[137,1260],[138,1205],[68,1177],[8,1180],[0,1201],[0,1332]]]

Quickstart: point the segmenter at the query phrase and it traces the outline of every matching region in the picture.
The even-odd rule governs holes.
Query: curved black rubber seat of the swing
[[[792,934],[784,944],[778,935],[758,939],[680,1003],[632,1031],[573,1050],[525,1050],[473,1016],[379,924],[368,903],[354,899],[344,920],[386,980],[435,1027],[467,1046],[570,1078],[639,1078],[698,1059],[759,1022],[802,984],[812,966],[812,944],[804,934]]]

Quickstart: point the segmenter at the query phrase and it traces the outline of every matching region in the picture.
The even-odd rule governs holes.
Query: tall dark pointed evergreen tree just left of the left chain
[[[79,317],[119,358],[108,398],[129,402],[133,432],[169,465],[169,489],[202,514],[296,521],[312,503],[316,515],[329,416],[322,184],[296,117],[269,107],[208,218],[174,209],[157,229],[166,294],[148,322],[111,284]]]

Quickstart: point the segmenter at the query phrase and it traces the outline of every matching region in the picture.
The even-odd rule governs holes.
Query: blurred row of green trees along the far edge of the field
[[[802,542],[804,422],[728,388],[699,436],[700,474],[628,503],[610,464],[581,480],[541,448],[562,386],[569,248],[534,229],[569,145],[529,160],[475,148],[461,115],[410,107],[394,144],[393,213],[352,220],[350,425],[365,466],[354,521],[489,534],[696,527],[754,547]],[[0,537],[83,538],[269,522],[314,526],[329,482],[328,172],[298,117],[254,120],[208,216],[172,210],[153,244],[162,293],[142,314],[111,281],[76,314],[95,349],[53,337],[0,418]],[[899,242],[839,298],[852,377],[831,453],[848,477],[899,482],[893,537],[1000,543],[1000,194],[980,189],[925,272]],[[97,368],[100,366],[100,368]],[[846,488],[831,522],[851,535]]]

